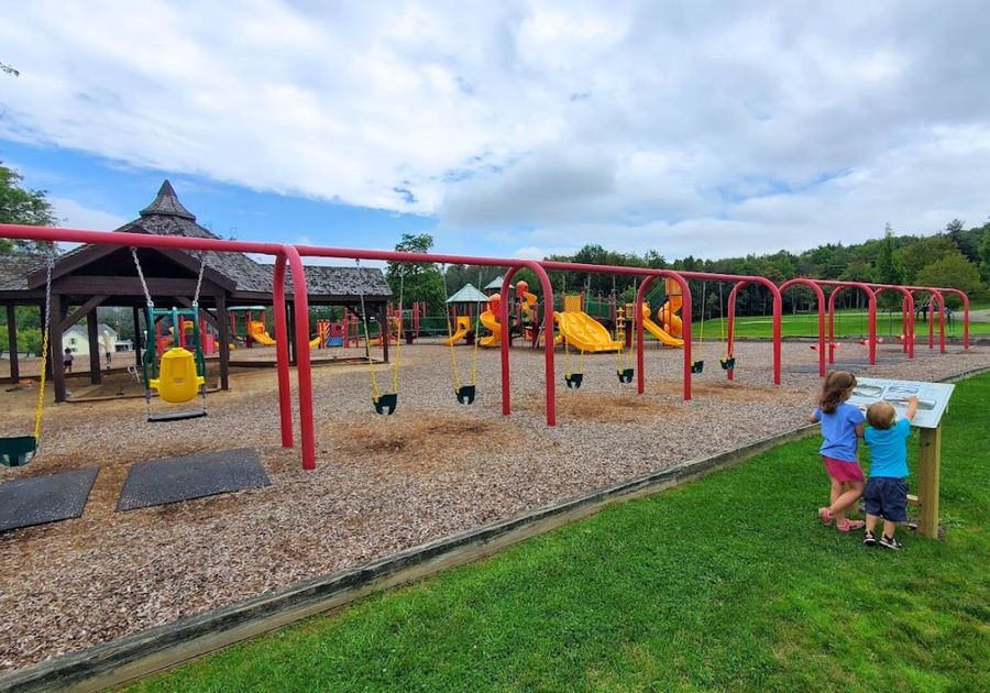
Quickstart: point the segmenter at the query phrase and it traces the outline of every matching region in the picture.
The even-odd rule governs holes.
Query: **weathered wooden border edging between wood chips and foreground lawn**
[[[987,372],[990,366],[967,371],[943,382]],[[782,443],[806,438],[817,430],[815,425],[802,426],[735,450],[650,472],[507,520],[0,674],[0,691],[98,691],[119,685],[344,606],[369,594],[492,556],[514,543],[593,515],[606,505],[679,486]]]

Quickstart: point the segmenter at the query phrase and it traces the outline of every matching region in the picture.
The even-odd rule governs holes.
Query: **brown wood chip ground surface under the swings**
[[[81,518],[0,535],[0,670],[11,670],[125,634],[256,596],[454,532],[534,510],[634,475],[727,451],[805,422],[820,387],[806,342],[783,348],[783,384],[771,384],[769,343],[737,344],[736,382],[718,365],[721,344],[695,345],[705,372],[681,398],[682,354],[647,351],[647,394],[620,384],[614,354],[588,355],[584,385],[563,384],[558,353],[558,421],[543,418],[543,355],[512,352],[513,415],[502,416],[497,351],[479,356],[474,405],[452,392],[440,344],[403,349],[398,411],[378,417],[367,369],[314,370],[318,466],[279,441],[274,370],[243,370],[210,414],[147,425],[140,399],[48,405],[42,453],[0,470],[0,481],[101,468]],[[840,360],[866,360],[844,346]],[[880,363],[850,370],[872,377],[939,380],[990,365],[990,348],[947,354],[895,345]],[[472,350],[461,348],[462,380]],[[388,383],[388,366],[378,366]],[[111,377],[125,377],[111,376]],[[73,381],[70,387],[80,388]],[[113,383],[103,391],[116,389]],[[51,395],[50,395],[51,396]],[[0,389],[0,433],[31,429],[35,391]],[[297,403],[294,403],[297,406]],[[114,513],[132,464],[251,447],[272,485],[226,496]],[[809,460],[809,474],[821,474]],[[947,461],[950,464],[950,461]],[[823,476],[823,484],[824,484]]]

